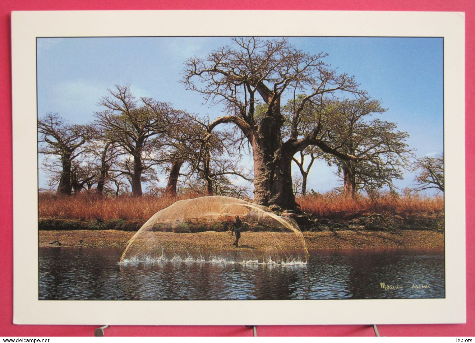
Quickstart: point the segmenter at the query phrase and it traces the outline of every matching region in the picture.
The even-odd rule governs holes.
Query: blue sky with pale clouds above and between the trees
[[[354,75],[361,89],[388,109],[380,118],[409,133],[408,144],[419,157],[442,152],[442,38],[289,37],[289,41],[304,52],[327,53],[325,63]],[[107,89],[130,84],[137,97],[217,117],[222,114],[218,106],[205,104],[199,93],[186,91],[179,80],[187,58],[205,57],[229,44],[228,37],[38,38],[38,115],[57,112],[70,123],[93,121],[94,112],[102,110],[97,102]],[[314,165],[308,189],[325,192],[339,186],[333,172],[324,163]],[[410,186],[413,179],[408,172],[396,185]],[[40,173],[40,187],[45,185]]]

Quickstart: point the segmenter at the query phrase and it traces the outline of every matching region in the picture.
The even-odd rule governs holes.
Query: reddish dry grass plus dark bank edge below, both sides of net
[[[99,197],[94,194],[59,197],[39,195],[39,230],[137,231],[154,213],[181,198],[143,196]],[[444,201],[441,196],[383,195],[351,199],[334,195],[298,197],[302,211],[311,221],[299,222],[303,231],[444,230]],[[308,216],[307,216],[308,218]]]

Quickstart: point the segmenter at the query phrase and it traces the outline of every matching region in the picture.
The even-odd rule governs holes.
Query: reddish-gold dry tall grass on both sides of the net
[[[170,206],[177,200],[197,197],[196,194],[180,198],[142,196],[100,197],[95,194],[57,196],[39,194],[39,216],[80,220],[140,219],[147,220],[152,214]],[[357,200],[344,196],[308,195],[298,197],[297,203],[304,212],[318,217],[351,219],[371,213],[398,213],[401,215],[441,213],[444,211],[442,196],[417,197],[390,195],[376,200],[361,196]]]

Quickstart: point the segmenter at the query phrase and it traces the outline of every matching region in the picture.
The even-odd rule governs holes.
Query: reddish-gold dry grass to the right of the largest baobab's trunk
[[[302,211],[318,217],[351,219],[371,213],[397,213],[399,215],[430,214],[444,211],[442,196],[400,196],[382,195],[377,199],[359,196],[357,199],[342,195],[307,195],[298,197]]]

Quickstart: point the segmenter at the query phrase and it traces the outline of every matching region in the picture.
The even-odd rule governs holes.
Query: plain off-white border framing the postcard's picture
[[[457,12],[12,12],[14,323],[465,323],[465,149],[461,148],[465,146],[464,35],[465,16]],[[444,37],[446,298],[38,300],[36,37],[114,36]]]

